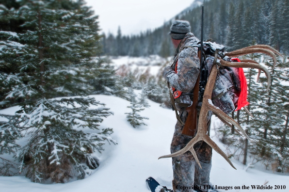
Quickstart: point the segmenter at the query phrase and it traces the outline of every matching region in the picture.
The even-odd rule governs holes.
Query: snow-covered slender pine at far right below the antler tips
[[[266,169],[277,170],[279,167],[280,140],[278,133],[284,129],[284,115],[282,109],[282,93],[280,93],[280,76],[283,73],[282,61],[277,59],[277,64],[273,70],[273,61],[270,59],[265,62],[270,69],[271,86],[266,92],[267,79],[260,78],[262,86],[259,87],[258,105],[254,121],[251,128],[254,131],[255,138],[258,140],[252,146],[252,154],[261,161]],[[254,138],[253,138],[254,139]]]

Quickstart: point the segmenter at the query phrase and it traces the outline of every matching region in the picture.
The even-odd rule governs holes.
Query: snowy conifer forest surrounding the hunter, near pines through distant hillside
[[[235,128],[215,127],[229,158],[243,165],[259,163],[273,173],[289,172],[289,0],[204,0],[204,41],[226,51],[269,45],[282,53],[273,59],[261,53],[242,56],[266,66],[264,73],[247,68],[247,107],[232,116],[253,140]],[[96,13],[97,15],[97,13]],[[0,176],[25,176],[38,183],[67,183],[90,176],[101,159],[94,152],[117,146],[103,121],[115,111],[93,95],[129,102],[123,112],[133,130],[151,119],[142,112],[148,100],[172,109],[162,70],[176,49],[168,32],[172,22],[188,20],[201,36],[200,7],[182,12],[160,28],[138,35],[101,34],[98,16],[84,0],[0,0]],[[120,57],[163,60],[160,72],[113,66]],[[135,90],[139,94],[135,94]],[[170,111],[171,112],[171,111]],[[173,112],[174,113],[174,112]],[[9,157],[12,158],[7,158]]]

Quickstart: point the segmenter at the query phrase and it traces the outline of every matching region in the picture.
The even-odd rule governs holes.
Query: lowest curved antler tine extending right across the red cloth
[[[224,60],[220,60],[220,63],[224,66],[230,66],[230,67],[248,67],[248,68],[257,68],[262,70],[265,75],[267,76],[268,79],[268,87],[267,87],[267,92],[269,91],[270,87],[270,82],[271,82],[271,76],[269,71],[267,70],[266,67],[260,65],[260,64],[254,64],[254,63],[243,63],[243,62],[227,62]]]

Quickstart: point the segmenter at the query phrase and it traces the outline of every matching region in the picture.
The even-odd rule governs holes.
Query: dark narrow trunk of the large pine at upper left
[[[38,53],[39,53],[39,63],[40,63],[40,85],[44,86],[45,80],[44,80],[43,75],[44,75],[45,69],[44,69],[44,62],[43,62],[44,49],[43,49],[43,36],[42,36],[42,32],[41,32],[41,30],[42,30],[41,22],[42,22],[42,16],[41,16],[40,11],[38,10],[38,29],[39,29]]]

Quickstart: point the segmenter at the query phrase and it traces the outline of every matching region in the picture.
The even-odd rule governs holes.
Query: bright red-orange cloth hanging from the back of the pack
[[[234,62],[241,62],[240,59],[234,58],[231,59]],[[236,111],[241,110],[242,107],[249,105],[250,103],[247,101],[247,80],[243,71],[243,68],[239,68],[239,77],[241,81],[241,94],[238,99],[238,108]]]

